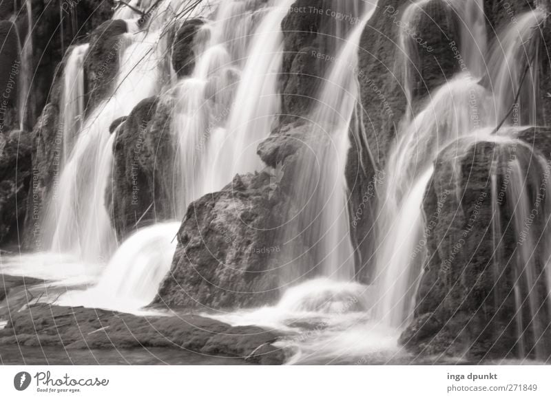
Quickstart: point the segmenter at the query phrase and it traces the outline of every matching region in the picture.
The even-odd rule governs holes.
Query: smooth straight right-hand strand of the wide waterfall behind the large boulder
[[[283,58],[281,21],[289,12],[291,4],[292,0],[275,1],[273,10],[267,11],[253,34],[222,144],[219,148],[207,151],[215,159],[207,180],[216,182],[217,188],[231,181],[236,173],[263,168],[260,158],[256,156],[256,147],[269,135],[280,112],[278,77]]]

